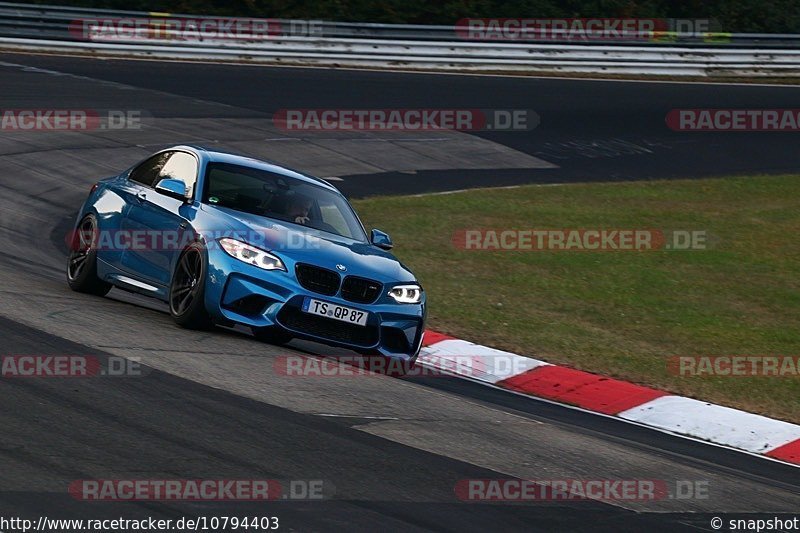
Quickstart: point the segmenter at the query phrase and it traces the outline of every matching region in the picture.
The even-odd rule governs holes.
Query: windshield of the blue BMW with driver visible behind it
[[[340,194],[266,170],[210,163],[203,201],[366,241],[361,223]]]

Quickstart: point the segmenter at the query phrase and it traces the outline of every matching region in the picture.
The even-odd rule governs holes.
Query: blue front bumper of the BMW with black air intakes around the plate
[[[209,251],[206,308],[219,322],[250,327],[278,326],[292,336],[401,361],[414,361],[422,345],[426,305],[390,301],[387,290],[372,304],[326,296],[302,287],[293,273],[266,271],[248,265],[221,250]],[[358,326],[305,313],[306,297],[369,313]]]

